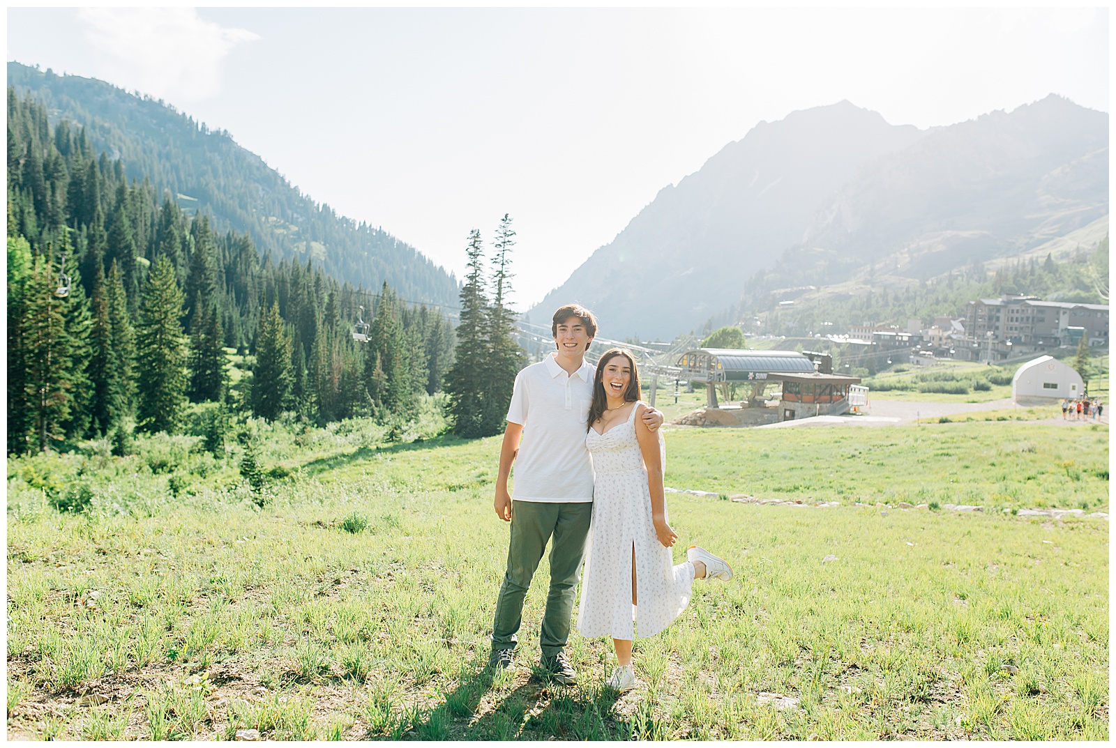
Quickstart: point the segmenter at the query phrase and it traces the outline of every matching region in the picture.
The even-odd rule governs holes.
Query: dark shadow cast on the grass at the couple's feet
[[[411,716],[397,737],[416,740],[647,740],[663,739],[664,726],[643,705],[631,717],[617,715],[619,694],[602,686],[560,686],[533,672],[531,679],[478,715],[492,677],[463,677],[444,701]],[[540,708],[541,707],[541,708]]]

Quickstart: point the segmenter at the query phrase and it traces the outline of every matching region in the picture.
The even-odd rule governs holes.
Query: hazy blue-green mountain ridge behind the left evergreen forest
[[[50,120],[84,126],[97,150],[125,163],[129,178],[211,213],[215,227],[249,232],[261,253],[306,262],[354,285],[387,282],[408,300],[455,305],[454,275],[382,227],[338,215],[267,161],[176,108],[96,78],[58,76],[8,62],[8,84],[48,107]]]

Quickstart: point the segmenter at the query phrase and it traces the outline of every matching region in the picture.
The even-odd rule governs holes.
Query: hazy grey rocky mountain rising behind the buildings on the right
[[[924,188],[906,173],[916,166],[935,176]],[[974,196],[983,202],[966,214]],[[899,197],[907,201],[902,211],[882,212]],[[762,122],[727,144],[660,191],[531,313],[577,299],[613,338],[670,338],[734,303],[747,307],[762,291],[817,282],[798,282],[799,271],[848,278],[872,254],[934,232],[966,236],[950,262],[997,256],[1086,225],[1106,206],[1104,113],[1048,96],[921,130],[843,100]],[[988,215],[977,220],[981,210]],[[648,235],[648,227],[661,234]],[[988,236],[975,239],[977,229]],[[799,255],[801,266],[789,275],[768,276],[777,260]],[[931,271],[944,272],[933,262],[923,272]]]

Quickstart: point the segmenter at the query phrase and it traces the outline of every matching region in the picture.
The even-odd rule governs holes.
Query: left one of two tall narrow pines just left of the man
[[[461,286],[461,322],[458,324],[455,360],[445,375],[453,431],[474,438],[484,433],[484,372],[488,350],[485,334],[489,313],[484,293],[484,258],[481,232],[469,234],[465,283]]]

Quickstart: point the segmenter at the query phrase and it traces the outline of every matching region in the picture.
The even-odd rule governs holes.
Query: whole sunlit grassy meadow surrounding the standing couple
[[[546,558],[519,667],[482,672],[500,439],[440,436],[436,405],[402,434],[251,421],[259,492],[201,437],[9,459],[8,737],[1108,738],[1108,522],[1011,512],[1107,512],[1105,425],[668,431],[667,485],[723,495],[667,496],[676,558],[737,577],[636,641],[617,698],[607,640],[571,633],[577,687],[535,669]]]

